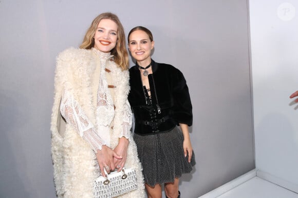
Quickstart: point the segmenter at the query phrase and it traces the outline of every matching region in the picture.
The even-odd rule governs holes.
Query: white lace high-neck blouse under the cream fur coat
[[[88,117],[84,114],[82,107],[67,91],[64,91],[62,95],[60,111],[67,123],[77,130],[79,135],[91,145],[95,152],[97,152],[97,150],[102,149],[102,145],[110,145],[109,125],[114,119],[115,111],[113,98],[109,94],[105,76],[106,60],[112,56],[109,53],[103,53],[94,48],[92,48],[92,51],[99,56],[101,65],[96,104],[97,127],[91,123]],[[122,118],[122,131],[119,138],[125,137],[130,141],[132,112],[128,100],[126,100],[126,104],[124,105]],[[104,140],[102,138],[104,138]]]

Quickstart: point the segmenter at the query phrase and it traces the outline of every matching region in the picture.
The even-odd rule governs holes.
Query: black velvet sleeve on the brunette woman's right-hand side
[[[172,90],[174,107],[172,118],[178,123],[187,124],[193,123],[192,103],[189,94],[189,88],[183,74],[176,69],[172,76]]]

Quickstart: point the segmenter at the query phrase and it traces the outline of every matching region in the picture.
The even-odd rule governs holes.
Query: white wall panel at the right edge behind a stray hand
[[[249,4],[256,168],[298,192],[298,1]]]

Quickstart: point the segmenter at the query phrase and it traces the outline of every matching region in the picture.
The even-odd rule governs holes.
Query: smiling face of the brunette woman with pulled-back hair
[[[142,30],[136,30],[129,35],[128,49],[139,65],[147,66],[151,62],[151,50],[154,41]]]

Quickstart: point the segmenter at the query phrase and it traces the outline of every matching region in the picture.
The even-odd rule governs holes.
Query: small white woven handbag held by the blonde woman
[[[136,171],[132,168],[123,168],[120,172],[106,173],[95,180],[95,197],[111,198],[137,189]]]

